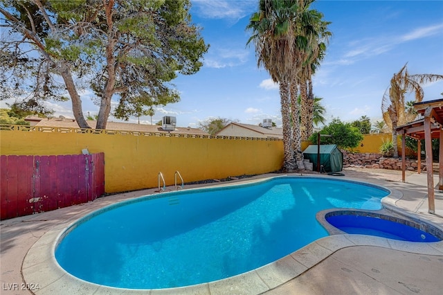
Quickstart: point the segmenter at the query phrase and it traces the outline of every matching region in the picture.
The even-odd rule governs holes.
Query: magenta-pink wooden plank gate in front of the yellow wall
[[[93,201],[105,193],[105,154],[0,157],[1,220]]]

